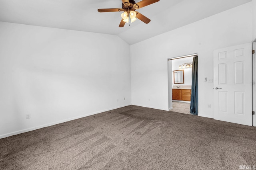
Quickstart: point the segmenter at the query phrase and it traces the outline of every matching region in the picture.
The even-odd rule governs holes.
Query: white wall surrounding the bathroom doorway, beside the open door
[[[213,117],[213,51],[251,42],[252,2],[131,45],[132,104],[168,110],[168,58],[198,53],[199,115]],[[171,22],[171,21],[170,21]],[[150,101],[148,100],[150,98]]]

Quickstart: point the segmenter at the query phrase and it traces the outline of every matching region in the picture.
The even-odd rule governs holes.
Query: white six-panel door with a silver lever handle
[[[252,43],[214,51],[214,119],[252,126]]]

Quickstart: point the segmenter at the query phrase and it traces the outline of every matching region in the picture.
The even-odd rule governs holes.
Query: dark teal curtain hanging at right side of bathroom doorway
[[[198,56],[193,57],[190,114],[198,115]]]

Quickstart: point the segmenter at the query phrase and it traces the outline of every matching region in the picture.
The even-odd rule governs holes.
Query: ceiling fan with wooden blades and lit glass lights
[[[139,8],[144,6],[148,6],[159,0],[142,0],[136,3],[134,0],[122,0],[122,8],[107,8],[107,9],[98,9],[98,12],[120,12],[123,11],[121,14],[122,20],[119,24],[119,27],[124,27],[125,23],[134,22],[138,18],[139,20],[143,21],[144,23],[149,23],[150,19],[145,17],[144,15],[140,14],[139,12],[135,11]]]

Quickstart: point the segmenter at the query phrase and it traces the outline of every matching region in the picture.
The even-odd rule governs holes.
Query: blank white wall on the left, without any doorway
[[[130,46],[118,36],[0,30],[0,138],[131,104]]]

